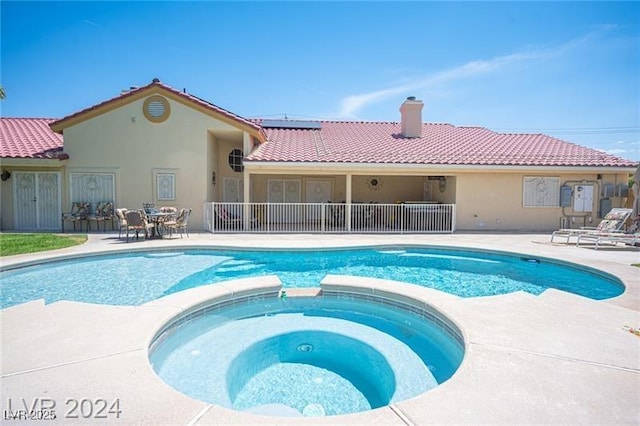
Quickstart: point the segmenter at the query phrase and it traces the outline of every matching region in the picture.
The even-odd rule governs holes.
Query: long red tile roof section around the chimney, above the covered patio
[[[405,138],[398,122],[320,123],[320,130],[265,128],[267,142],[251,153],[247,162],[636,166],[632,161],[542,134],[425,123],[421,137]]]

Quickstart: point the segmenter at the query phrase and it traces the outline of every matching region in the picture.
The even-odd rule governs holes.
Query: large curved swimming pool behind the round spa
[[[592,299],[624,292],[615,277],[517,254],[409,246],[331,250],[157,250],[78,257],[3,271],[1,307],[44,298],[141,305],[181,290],[262,275],[318,287],[327,274],[403,281],[461,297],[548,288]]]

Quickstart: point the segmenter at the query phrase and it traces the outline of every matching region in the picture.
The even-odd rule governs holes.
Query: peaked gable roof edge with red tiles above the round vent
[[[111,99],[108,99],[104,102],[100,102],[99,104],[93,105],[89,108],[85,108],[81,111],[78,111],[76,113],[73,113],[71,115],[68,115],[66,117],[63,117],[59,120],[54,121],[51,125],[52,127],[56,128],[56,131],[58,130],[57,127],[62,126],[63,128],[65,127],[65,122],[70,122],[73,121],[76,118],[80,118],[81,116],[85,115],[85,114],[91,114],[92,112],[97,112],[98,110],[101,110],[103,108],[109,108],[111,105],[115,104],[116,102],[120,102],[122,100],[126,100],[127,98],[132,98],[135,97],[136,95],[140,94],[140,92],[144,92],[144,91],[148,91],[151,88],[161,88],[165,91],[168,91],[170,93],[172,93],[173,95],[182,98],[188,102],[193,103],[194,105],[199,105],[201,107],[204,107],[205,109],[211,111],[211,112],[215,112],[218,114],[221,114],[233,121],[236,121],[238,123],[242,123],[245,124],[249,127],[252,127],[256,130],[261,130],[261,127],[256,124],[255,122],[251,121],[251,120],[247,120],[244,117],[241,117],[237,114],[232,113],[231,111],[227,111],[224,108],[220,108],[217,105],[214,105],[210,102],[207,102],[203,99],[198,98],[197,96],[191,95],[189,93],[186,93],[185,91],[180,91],[180,90],[176,90],[171,86],[168,86],[164,83],[162,83],[160,80],[158,79],[153,79],[153,81],[149,84],[147,84],[146,86],[142,86],[139,88],[133,88],[132,90],[129,90],[125,93],[121,93],[119,96],[115,96]]]

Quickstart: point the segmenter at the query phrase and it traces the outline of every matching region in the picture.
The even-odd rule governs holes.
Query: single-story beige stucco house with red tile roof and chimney
[[[549,231],[626,203],[633,161],[422,114],[409,97],[399,122],[247,119],[154,79],[61,119],[2,118],[0,226],[58,231],[72,202],[113,201],[191,207],[202,230],[223,202],[248,229],[258,203],[331,202],[347,217],[435,204],[454,207],[449,230]]]

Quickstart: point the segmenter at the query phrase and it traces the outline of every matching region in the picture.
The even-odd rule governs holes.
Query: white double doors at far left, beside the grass
[[[13,181],[14,228],[60,229],[60,173],[15,172]]]

